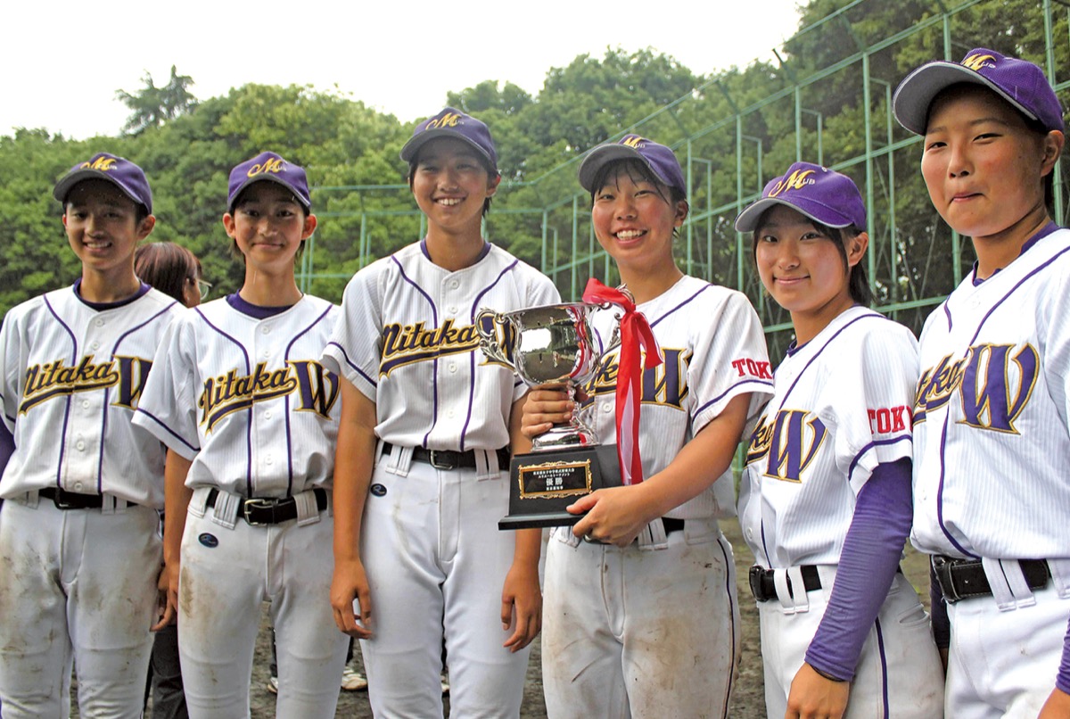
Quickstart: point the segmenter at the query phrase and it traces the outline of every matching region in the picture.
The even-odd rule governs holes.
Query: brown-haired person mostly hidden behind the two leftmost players
[[[138,247],[134,253],[134,272],[142,282],[186,307],[199,305],[212,287],[201,278],[201,264],[197,256],[173,242],[151,242]],[[153,719],[181,719],[189,716],[186,697],[182,691],[179,627],[173,623],[156,630],[149,660],[149,684],[152,689]],[[149,689],[150,687],[146,687],[146,702],[149,701]]]

